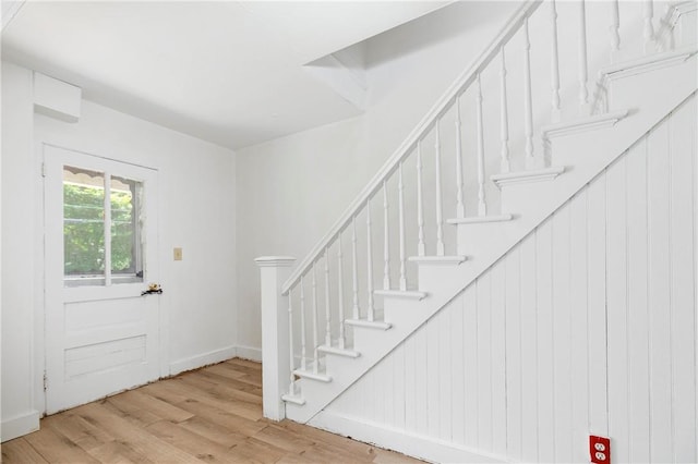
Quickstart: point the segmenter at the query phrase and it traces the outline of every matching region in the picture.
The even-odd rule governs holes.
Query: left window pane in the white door
[[[104,284],[104,185],[101,172],[63,168],[63,272],[68,285]]]

